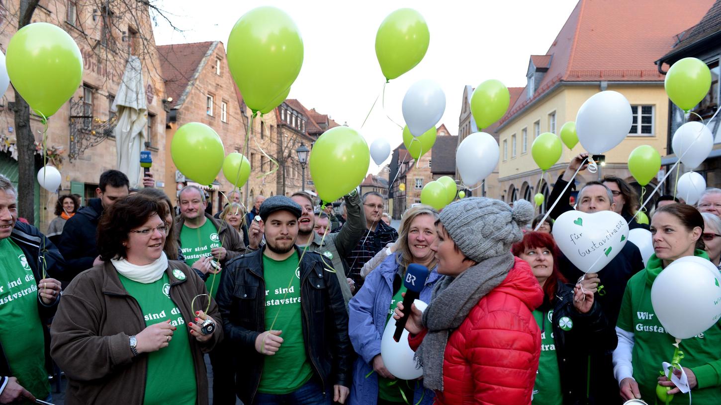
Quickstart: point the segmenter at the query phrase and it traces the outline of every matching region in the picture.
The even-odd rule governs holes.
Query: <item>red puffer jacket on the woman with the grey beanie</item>
[[[531,404],[541,356],[541,331],[531,311],[542,302],[530,266],[516,258],[503,283],[448,337],[443,392],[435,393],[435,404]],[[425,334],[408,338],[413,350]]]

